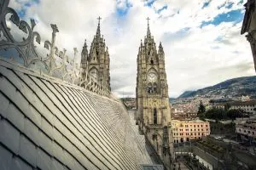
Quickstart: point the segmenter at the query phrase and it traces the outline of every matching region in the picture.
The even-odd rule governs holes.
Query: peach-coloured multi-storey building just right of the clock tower
[[[178,121],[172,120],[173,143],[188,142],[194,139],[202,139],[210,134],[210,123],[201,120]]]

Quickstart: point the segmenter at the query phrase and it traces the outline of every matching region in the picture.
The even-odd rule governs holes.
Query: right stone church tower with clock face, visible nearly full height
[[[147,19],[149,20],[149,19]],[[141,41],[137,54],[137,114],[140,130],[154,146],[166,167],[171,168],[171,111],[166,80],[165,53],[160,42],[158,50],[151,35]]]

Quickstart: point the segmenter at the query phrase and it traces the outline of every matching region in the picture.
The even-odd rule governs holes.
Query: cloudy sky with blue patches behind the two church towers
[[[113,94],[135,97],[137,54],[150,30],[166,59],[169,97],[234,77],[254,76],[253,56],[241,23],[245,0],[10,0],[22,20],[50,40],[50,24],[60,32],[58,48],[79,54],[96,35],[97,17],[110,54]],[[79,58],[77,61],[79,62]]]

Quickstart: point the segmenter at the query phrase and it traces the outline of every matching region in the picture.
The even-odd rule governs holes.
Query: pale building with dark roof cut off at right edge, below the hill
[[[241,135],[241,139],[254,142],[256,144],[256,121],[236,123],[236,133]]]

